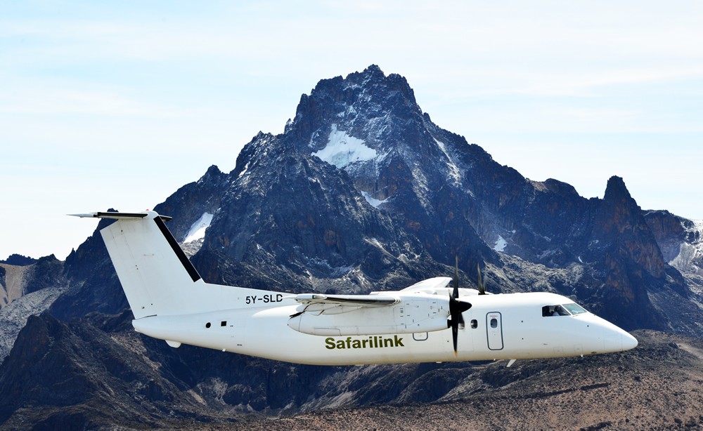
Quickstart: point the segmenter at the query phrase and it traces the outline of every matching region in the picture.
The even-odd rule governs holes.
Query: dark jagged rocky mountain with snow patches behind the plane
[[[210,166],[155,211],[174,217],[168,226],[179,242],[204,229],[183,247],[202,277],[217,284],[367,293],[451,274],[457,256],[464,287],[475,285],[479,267],[494,293],[552,291],[628,330],[703,338],[703,227],[643,211],[616,176],[603,199],[583,198],[558,180],[524,178],[432,123],[406,79],[376,65],[321,80],[301,96],[283,133],[258,133],[231,172]],[[98,230],[107,223],[101,220]],[[110,394],[131,419],[110,413],[108,420],[168,427],[226,422],[228,414],[382,404],[403,393],[404,402],[437,401],[467,390],[453,374],[458,364],[395,366],[418,380],[389,381],[379,370],[392,367],[295,366],[197,347],[173,350],[145,338],[131,329],[98,230],[54,263],[53,274],[65,281],[58,298],[29,318],[0,366],[0,388],[7,390],[0,390],[0,423],[22,424],[22,415],[34,415],[37,423],[106,426],[96,418],[107,414],[100,404],[109,405]],[[44,286],[37,292],[52,288],[46,274],[34,274],[27,283]],[[84,393],[49,376],[54,361]],[[513,371],[491,372],[487,379],[501,380]],[[340,380],[348,390],[337,393]],[[20,389],[22,381],[31,384]]]

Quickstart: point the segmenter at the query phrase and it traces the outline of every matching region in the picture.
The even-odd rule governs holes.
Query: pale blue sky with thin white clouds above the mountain
[[[0,0],[0,259],[65,258],[370,64],[533,180],[703,218],[703,2]]]

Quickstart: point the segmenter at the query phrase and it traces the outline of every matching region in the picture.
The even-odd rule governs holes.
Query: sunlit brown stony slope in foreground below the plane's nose
[[[636,350],[475,366],[441,402],[247,420],[250,429],[699,430],[703,343],[636,331]],[[244,425],[244,424],[240,424]]]

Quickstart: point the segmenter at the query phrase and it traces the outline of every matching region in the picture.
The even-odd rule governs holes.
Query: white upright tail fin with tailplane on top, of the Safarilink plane
[[[117,220],[100,233],[135,319],[200,311],[196,287],[204,282],[166,227],[170,218],[155,211],[72,215]]]

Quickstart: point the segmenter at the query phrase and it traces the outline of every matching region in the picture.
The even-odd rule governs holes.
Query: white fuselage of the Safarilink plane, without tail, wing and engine
[[[357,336],[309,335],[288,326],[298,307],[295,300],[286,298],[288,294],[236,290],[240,294],[235,293],[231,300],[238,307],[143,317],[133,321],[134,328],[154,338],[183,344],[324,365],[569,357],[619,352],[637,345],[626,331],[590,312],[543,317],[545,305],[572,303],[553,293],[470,296],[472,307],[463,313],[466,324],[459,330],[455,356],[449,329]],[[448,296],[449,289],[444,290]],[[273,305],[247,305],[247,297],[280,298],[280,301]],[[396,314],[392,309],[382,311]],[[364,314],[372,312],[375,309],[351,313],[363,321]]]

